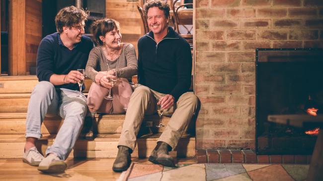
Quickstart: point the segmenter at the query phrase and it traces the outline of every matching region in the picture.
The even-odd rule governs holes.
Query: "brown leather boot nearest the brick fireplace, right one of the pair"
[[[167,143],[160,141],[148,160],[166,167],[176,167],[173,158],[168,155],[168,150],[170,149],[171,147]]]

